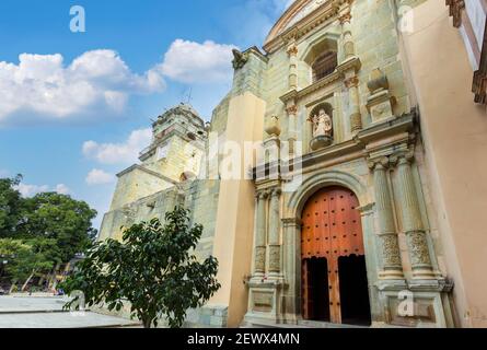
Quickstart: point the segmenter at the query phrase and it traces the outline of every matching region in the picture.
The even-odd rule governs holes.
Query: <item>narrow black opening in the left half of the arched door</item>
[[[308,319],[329,322],[328,262],[326,258],[304,260],[308,272]]]

